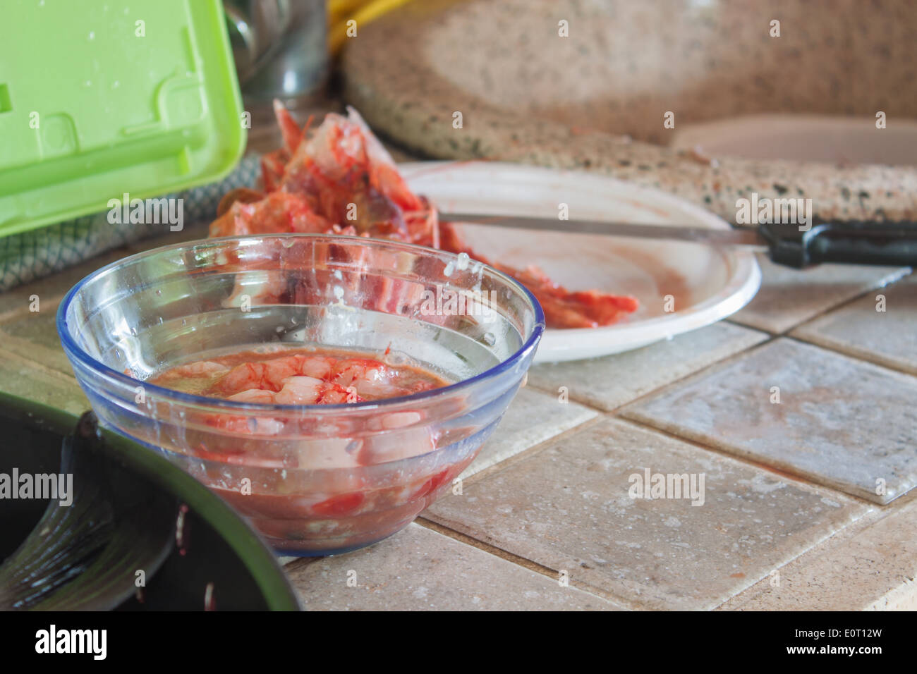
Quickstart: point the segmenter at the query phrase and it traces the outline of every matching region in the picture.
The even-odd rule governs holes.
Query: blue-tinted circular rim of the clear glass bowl
[[[414,401],[423,401],[428,398],[434,398],[438,395],[445,394],[447,392],[456,392],[461,389],[470,387],[480,381],[485,381],[492,379],[504,371],[509,370],[518,360],[522,359],[525,356],[525,353],[530,349],[535,348],[538,340],[544,334],[545,331],[545,312],[541,308],[541,304],[538,302],[535,294],[533,294],[528,288],[525,287],[522,283],[516,281],[513,277],[508,274],[504,274],[503,271],[494,269],[489,264],[483,264],[483,266],[495,274],[498,278],[502,279],[504,282],[508,282],[510,285],[515,286],[522,294],[528,298],[529,302],[535,309],[535,323],[532,326],[532,334],[528,339],[525,340],[525,343],[520,347],[512,356],[508,359],[502,360],[496,365],[494,365],[489,370],[484,370],[481,374],[476,374],[469,379],[456,381],[455,383],[448,384],[447,386],[441,386],[438,389],[431,389],[430,391],[424,391],[419,393],[412,393],[411,395],[402,395],[397,398],[384,398],[382,400],[376,401],[365,401],[363,403],[337,403],[337,404],[326,404],[326,405],[294,405],[294,404],[277,404],[277,403],[242,403],[235,400],[224,400],[222,398],[210,398],[204,395],[194,395],[193,393],[185,393],[181,391],[175,391],[173,389],[165,388],[164,386],[158,386],[156,384],[149,383],[149,381],[136,379],[131,377],[123,372],[109,368],[105,363],[102,363],[88,353],[86,353],[83,348],[76,344],[70,336],[70,332],[67,330],[67,308],[70,306],[73,297],[76,293],[80,292],[80,289],[83,288],[83,285],[94,280],[95,278],[102,276],[110,270],[116,269],[119,265],[124,264],[127,260],[134,260],[136,258],[141,258],[147,255],[150,255],[154,252],[160,252],[163,250],[169,249],[182,249],[182,248],[193,248],[195,246],[207,246],[210,244],[218,243],[220,241],[240,241],[245,239],[263,239],[263,238],[332,238],[332,239],[344,239],[348,243],[352,240],[359,241],[361,243],[368,243],[370,245],[379,245],[379,246],[390,246],[392,248],[402,248],[408,250],[422,250],[424,252],[436,253],[436,255],[446,255],[448,257],[458,260],[458,255],[456,253],[448,252],[447,250],[432,249],[426,246],[418,246],[413,243],[403,243],[401,241],[390,241],[387,239],[381,238],[366,238],[366,237],[352,237],[340,234],[251,234],[244,237],[216,237],[216,238],[196,238],[191,241],[184,241],[182,243],[171,244],[170,246],[160,246],[159,248],[144,250],[134,255],[128,255],[126,258],[121,260],[116,260],[109,264],[106,264],[105,267],[93,271],[91,274],[87,274],[79,282],[74,285],[70,291],[64,295],[61,304],[58,307],[57,317],[55,320],[58,337],[61,339],[61,346],[64,349],[64,352],[68,355],[72,355],[75,359],[79,360],[83,366],[88,367],[90,370],[95,370],[96,372],[105,375],[106,377],[115,379],[116,381],[122,381],[124,383],[141,384],[149,392],[159,393],[161,398],[171,398],[172,400],[180,401],[182,403],[193,403],[196,405],[208,405],[212,407],[227,407],[232,410],[249,410],[257,412],[290,412],[292,410],[302,410],[308,408],[314,410],[315,412],[321,412],[322,414],[330,414],[331,412],[340,411],[343,409],[359,409],[359,410],[371,410],[377,407],[388,407],[393,406],[399,403],[408,403]],[[476,260],[480,261],[480,260]]]

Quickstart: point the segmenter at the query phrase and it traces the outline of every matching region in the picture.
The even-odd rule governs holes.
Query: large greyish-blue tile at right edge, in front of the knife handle
[[[917,378],[787,338],[623,414],[876,503],[917,484]]]

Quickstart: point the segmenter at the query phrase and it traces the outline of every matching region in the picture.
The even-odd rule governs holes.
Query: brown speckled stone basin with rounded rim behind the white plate
[[[915,31],[915,5],[895,0],[424,0],[348,40],[345,93],[437,158],[602,171],[730,221],[752,192],[812,198],[823,218],[912,221],[917,167],[711,160],[657,143],[667,111],[676,127],[755,112],[915,117]]]

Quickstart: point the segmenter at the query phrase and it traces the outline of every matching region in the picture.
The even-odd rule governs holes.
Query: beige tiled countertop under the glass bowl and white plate
[[[203,235],[0,294],[0,388],[88,408],[54,329],[63,294]],[[460,494],[375,546],[286,564],[304,606],[917,608],[917,277],[761,263],[730,320],[536,366]],[[647,469],[702,475],[703,503],[631,498]]]

